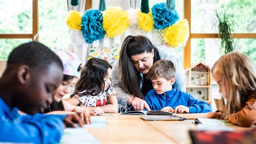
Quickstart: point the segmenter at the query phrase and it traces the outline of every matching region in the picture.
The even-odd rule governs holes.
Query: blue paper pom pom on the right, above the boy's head
[[[179,16],[176,10],[168,10],[165,6],[165,3],[159,3],[153,5],[152,9],[152,17],[154,20],[154,28],[162,29],[173,25],[177,20],[179,20]]]

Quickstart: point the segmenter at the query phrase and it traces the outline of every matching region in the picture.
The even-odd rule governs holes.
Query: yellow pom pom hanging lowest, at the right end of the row
[[[176,24],[165,28],[163,31],[164,40],[172,47],[178,47],[187,42],[189,26],[187,19],[178,21]]]

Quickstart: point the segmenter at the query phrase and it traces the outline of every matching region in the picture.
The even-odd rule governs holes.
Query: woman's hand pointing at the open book
[[[147,111],[151,111],[149,105],[147,105],[147,102],[145,100],[134,97],[133,95],[128,100],[128,105],[132,105],[135,110],[143,111],[146,108]]]

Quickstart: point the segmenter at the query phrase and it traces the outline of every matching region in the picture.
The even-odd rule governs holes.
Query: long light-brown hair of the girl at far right
[[[212,74],[219,74],[223,80],[220,87],[223,92],[221,105],[225,108],[223,117],[240,111],[255,93],[255,67],[242,53],[231,52],[220,57],[212,67]],[[226,95],[224,85],[230,90],[229,95]]]

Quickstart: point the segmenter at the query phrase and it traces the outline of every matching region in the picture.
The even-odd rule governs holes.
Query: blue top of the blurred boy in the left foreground
[[[57,143],[64,129],[66,115],[21,115],[0,98],[0,143]]]

